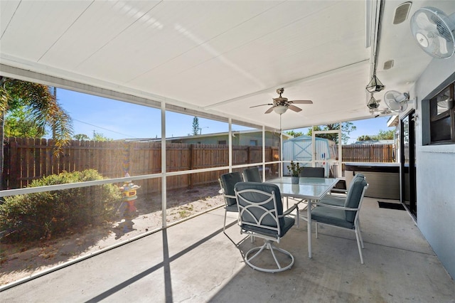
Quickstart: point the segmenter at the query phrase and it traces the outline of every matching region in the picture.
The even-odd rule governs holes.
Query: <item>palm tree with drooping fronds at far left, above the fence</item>
[[[52,129],[56,155],[73,134],[71,117],[60,107],[47,85],[0,76],[0,186],[4,168],[4,116],[8,110],[20,106],[30,109],[36,127],[43,133],[46,126]]]

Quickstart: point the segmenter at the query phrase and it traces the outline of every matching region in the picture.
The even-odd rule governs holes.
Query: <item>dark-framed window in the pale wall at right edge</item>
[[[455,143],[454,90],[455,82],[429,101],[431,144]]]

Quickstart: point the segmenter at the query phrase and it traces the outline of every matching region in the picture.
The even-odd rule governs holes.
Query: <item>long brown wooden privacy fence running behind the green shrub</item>
[[[96,169],[107,178],[159,174],[161,142],[94,142],[70,141],[59,156],[53,153],[51,139],[9,138],[4,147],[2,189],[23,188],[34,179],[62,171]],[[166,171],[186,171],[228,166],[227,145],[166,144]],[[278,159],[277,147],[266,147],[265,161]],[[234,165],[262,162],[262,147],[232,147]],[[169,176],[167,188],[184,188],[210,184],[227,171],[209,171],[182,176]],[[161,179],[134,181],[141,192],[161,191]]]

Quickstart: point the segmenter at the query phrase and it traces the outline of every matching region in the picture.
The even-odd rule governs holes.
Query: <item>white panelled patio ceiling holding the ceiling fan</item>
[[[386,90],[409,91],[432,60],[410,33],[414,11],[435,6],[455,13],[455,1],[413,1],[407,20],[393,25],[402,2],[382,2],[377,75]],[[365,48],[365,3],[1,0],[0,60],[3,67],[274,128],[277,114],[250,107],[272,102],[279,87],[289,100],[314,102],[299,105],[299,113],[288,110],[284,129],[362,119],[372,117],[365,85],[377,21],[368,31],[373,47]],[[383,70],[390,59],[393,68]]]

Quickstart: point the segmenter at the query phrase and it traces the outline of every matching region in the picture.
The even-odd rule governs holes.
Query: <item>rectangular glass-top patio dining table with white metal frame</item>
[[[309,201],[307,211],[308,257],[311,257],[311,203],[317,203],[337,184],[336,178],[299,178],[299,184],[292,184],[291,177],[268,180],[276,184],[284,197],[299,198]]]

